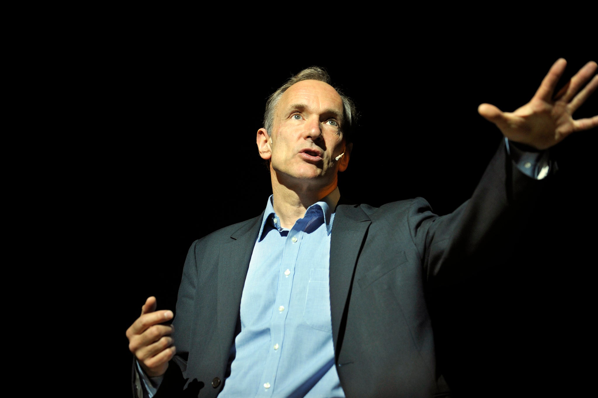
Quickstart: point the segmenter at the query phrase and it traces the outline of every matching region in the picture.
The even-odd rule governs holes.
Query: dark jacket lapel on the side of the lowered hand
[[[263,217],[262,213],[243,224],[220,246],[216,316],[222,355],[228,355],[230,351],[232,342],[229,337],[236,330],[243,286]]]

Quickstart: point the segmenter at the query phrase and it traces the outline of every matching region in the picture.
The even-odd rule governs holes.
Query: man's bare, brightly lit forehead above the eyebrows
[[[334,109],[343,112],[343,100],[334,87],[318,80],[302,80],[289,87],[280,97],[279,109],[289,105],[302,104],[309,108]]]

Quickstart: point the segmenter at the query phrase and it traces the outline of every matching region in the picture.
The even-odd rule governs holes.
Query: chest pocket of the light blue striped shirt
[[[314,329],[332,333],[328,275],[329,271],[326,268],[316,268],[309,271],[303,320]]]

